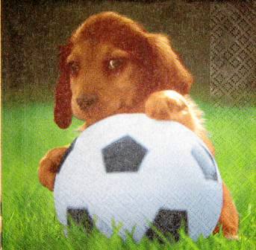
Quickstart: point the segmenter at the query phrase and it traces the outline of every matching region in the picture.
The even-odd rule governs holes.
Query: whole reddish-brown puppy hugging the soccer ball
[[[60,49],[60,71],[54,109],[60,128],[71,124],[72,115],[86,121],[86,129],[110,115],[146,112],[150,118],[184,124],[214,154],[202,112],[188,96],[193,77],[166,36],[148,33],[125,16],[99,13]],[[65,152],[66,147],[50,150],[40,161],[40,182],[49,190]],[[219,223],[225,237],[237,239],[238,214],[224,184]]]

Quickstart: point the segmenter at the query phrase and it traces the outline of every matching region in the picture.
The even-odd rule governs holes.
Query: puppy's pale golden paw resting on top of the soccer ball
[[[156,120],[178,121],[194,129],[193,115],[187,100],[178,92],[166,90],[155,92],[146,101],[146,115]]]

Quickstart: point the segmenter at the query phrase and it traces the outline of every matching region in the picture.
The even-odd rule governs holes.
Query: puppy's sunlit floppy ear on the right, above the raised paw
[[[188,94],[193,77],[182,65],[178,55],[172,51],[169,39],[162,34],[150,33],[152,80],[157,90],[173,89]]]

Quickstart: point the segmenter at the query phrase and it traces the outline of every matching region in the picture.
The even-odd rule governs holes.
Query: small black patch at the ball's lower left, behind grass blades
[[[66,217],[69,226],[75,222],[75,225],[83,227],[87,232],[93,230],[93,219],[86,208],[67,208]]]

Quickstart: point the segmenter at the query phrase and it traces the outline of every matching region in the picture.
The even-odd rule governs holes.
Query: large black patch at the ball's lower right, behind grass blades
[[[146,231],[146,237],[149,237],[151,240],[155,238],[160,242],[163,242],[159,233],[163,234],[165,237],[168,237],[169,234],[173,240],[178,241],[180,239],[179,230],[181,227],[184,227],[184,231],[187,234],[187,211],[160,208],[154,218],[152,227]]]

